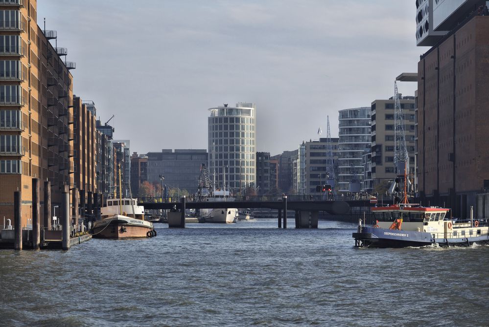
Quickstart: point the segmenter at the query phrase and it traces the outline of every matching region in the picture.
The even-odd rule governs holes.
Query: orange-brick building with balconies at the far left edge
[[[32,215],[32,178],[41,180],[41,194],[50,182],[55,205],[61,186],[73,187],[74,169],[75,65],[66,62],[66,48],[49,43],[56,31],[37,25],[36,1],[26,2],[0,1],[0,217],[14,223],[14,191],[21,191],[22,226]]]

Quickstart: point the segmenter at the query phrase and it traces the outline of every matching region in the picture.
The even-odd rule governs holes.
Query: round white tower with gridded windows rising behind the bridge
[[[215,186],[222,188],[226,178],[226,188],[234,192],[256,188],[255,104],[240,102],[209,111],[209,173]]]

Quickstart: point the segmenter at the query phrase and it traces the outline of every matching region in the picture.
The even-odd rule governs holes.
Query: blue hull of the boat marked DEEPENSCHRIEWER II
[[[473,243],[489,244],[488,235],[468,238],[435,239],[426,232],[393,230],[374,227],[361,227],[361,231],[353,233],[356,247],[420,247],[438,244],[442,247],[470,246]]]

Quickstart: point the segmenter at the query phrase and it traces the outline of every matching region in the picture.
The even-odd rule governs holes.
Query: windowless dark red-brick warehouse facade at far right
[[[489,186],[489,17],[474,16],[418,64],[419,192],[468,217]]]

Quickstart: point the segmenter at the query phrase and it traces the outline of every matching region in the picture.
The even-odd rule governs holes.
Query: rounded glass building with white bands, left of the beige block
[[[351,181],[363,179],[362,156],[371,148],[371,110],[371,107],[339,110],[338,192],[349,192]]]

